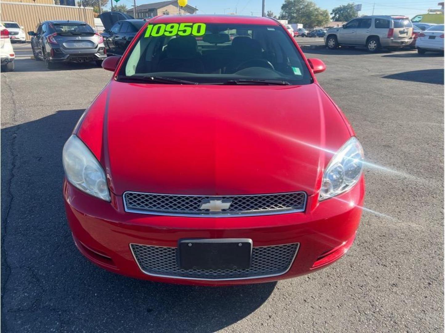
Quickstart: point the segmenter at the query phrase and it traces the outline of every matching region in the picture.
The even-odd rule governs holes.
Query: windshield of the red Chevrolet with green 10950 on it
[[[214,84],[229,80],[312,82],[283,27],[252,24],[149,24],[125,58],[118,80],[132,76]]]

